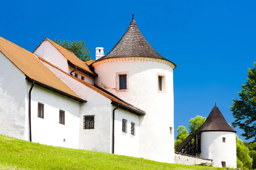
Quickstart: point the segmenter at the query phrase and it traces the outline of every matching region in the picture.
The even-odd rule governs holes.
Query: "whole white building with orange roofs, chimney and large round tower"
[[[34,54],[0,38],[0,58],[0,134],[174,163],[176,65],[134,17],[108,54],[96,48],[96,61],[47,38]]]

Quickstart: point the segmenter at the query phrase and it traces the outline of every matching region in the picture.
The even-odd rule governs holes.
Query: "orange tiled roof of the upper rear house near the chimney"
[[[94,76],[96,77],[97,74],[95,74],[93,71],[91,71],[88,66],[81,61],[78,57],[76,57],[76,55],[71,52],[68,51],[66,48],[63,48],[61,45],[58,45],[57,43],[53,42],[52,40],[50,40],[49,38],[45,38],[42,42],[44,42],[45,40],[48,40],[58,51],[60,51],[60,53],[68,60],[70,61],[73,65],[79,67],[80,69],[82,69],[83,71],[85,71],[87,74],[89,74],[90,76]],[[41,43],[42,43],[41,42]],[[40,45],[38,45],[39,47]],[[37,48],[38,48],[37,47]],[[36,48],[36,49],[37,49]],[[36,50],[35,49],[35,50]],[[34,51],[35,51],[34,50]]]

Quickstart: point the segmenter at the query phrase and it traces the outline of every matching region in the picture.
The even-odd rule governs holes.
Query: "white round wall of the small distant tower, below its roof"
[[[223,137],[226,142],[222,142]],[[197,156],[212,159],[214,167],[222,167],[221,161],[226,161],[227,167],[236,168],[236,133],[202,132],[201,151]]]

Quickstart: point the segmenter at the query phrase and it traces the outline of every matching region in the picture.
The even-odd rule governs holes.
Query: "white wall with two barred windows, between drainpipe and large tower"
[[[112,110],[116,108],[113,106]],[[122,132],[122,119],[127,120],[127,133]],[[135,123],[135,136],[131,135],[131,122]],[[140,136],[139,116],[116,109],[115,111],[115,154],[126,156],[139,156],[139,136]]]

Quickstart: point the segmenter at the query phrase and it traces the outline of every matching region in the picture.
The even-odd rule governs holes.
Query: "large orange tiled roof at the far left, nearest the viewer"
[[[38,57],[20,46],[0,37],[0,51],[27,77],[64,92],[75,99],[83,100],[66,83],[59,79]]]

